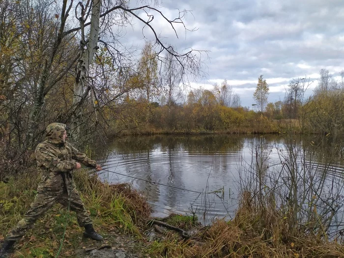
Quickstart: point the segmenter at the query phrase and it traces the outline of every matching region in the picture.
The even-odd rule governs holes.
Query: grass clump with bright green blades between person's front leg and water
[[[103,226],[128,229],[140,235],[149,218],[151,207],[143,195],[130,184],[101,182],[96,174],[78,171],[74,176],[86,207]],[[115,222],[115,223],[114,223]]]

